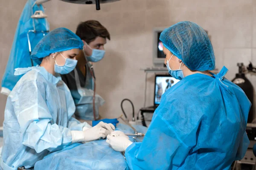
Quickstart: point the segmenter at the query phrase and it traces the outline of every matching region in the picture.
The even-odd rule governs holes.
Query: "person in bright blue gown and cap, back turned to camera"
[[[251,103],[244,91],[218,74],[212,44],[203,28],[180,22],[160,35],[169,74],[180,81],[163,94],[143,142],[107,136],[125,151],[132,170],[228,170],[242,159]]]

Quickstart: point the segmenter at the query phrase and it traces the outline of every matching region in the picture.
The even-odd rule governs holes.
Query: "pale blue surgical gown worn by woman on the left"
[[[39,66],[18,68],[15,74],[25,75],[6,102],[0,160],[5,170],[33,167],[49,152],[69,146],[70,130],[90,127],[72,117],[76,107],[60,77]]]

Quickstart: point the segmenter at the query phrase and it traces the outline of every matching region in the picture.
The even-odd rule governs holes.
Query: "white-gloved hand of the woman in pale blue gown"
[[[83,131],[71,130],[72,143],[76,142],[90,142],[97,139],[105,139],[108,134],[111,134],[115,130],[112,124],[99,122],[98,125],[90,127]]]

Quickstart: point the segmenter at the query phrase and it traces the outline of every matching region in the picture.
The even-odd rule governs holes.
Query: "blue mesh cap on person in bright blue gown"
[[[163,30],[163,45],[192,71],[215,69],[215,56],[207,33],[189,21],[179,22]]]

